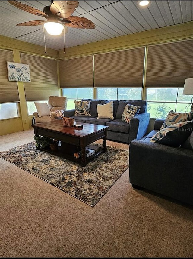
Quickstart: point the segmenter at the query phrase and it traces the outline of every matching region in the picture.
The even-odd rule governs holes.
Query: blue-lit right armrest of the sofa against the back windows
[[[141,139],[147,132],[150,113],[140,113],[130,120],[129,143],[134,139]]]

